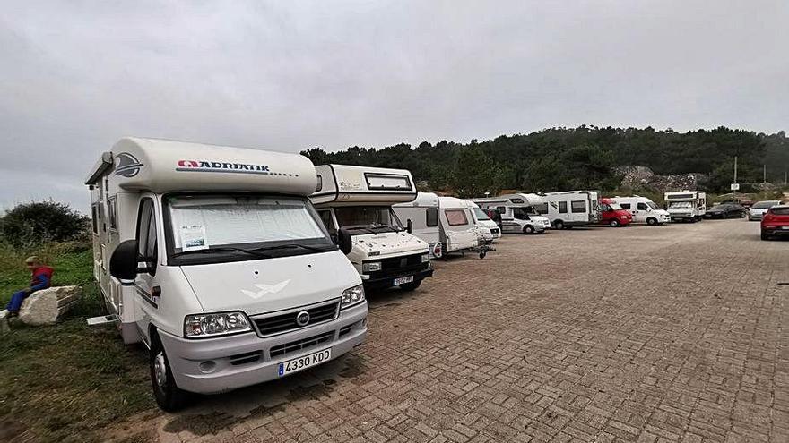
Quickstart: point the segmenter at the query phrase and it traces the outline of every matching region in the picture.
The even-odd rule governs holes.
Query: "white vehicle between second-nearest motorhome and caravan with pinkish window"
[[[429,244],[430,255],[440,259],[443,253],[438,228],[438,195],[433,192],[417,192],[416,199],[392,205],[395,215],[406,226],[410,223],[414,236]]]

